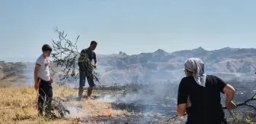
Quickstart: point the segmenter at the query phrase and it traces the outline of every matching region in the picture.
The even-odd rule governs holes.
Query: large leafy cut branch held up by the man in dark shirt
[[[72,42],[71,40],[67,39],[67,34],[64,31],[59,31],[57,27],[53,29],[58,34],[58,39],[53,39],[53,63],[56,64],[57,67],[62,67],[62,81],[66,81],[72,77],[73,79],[77,80],[79,77],[78,72],[78,57],[80,56],[80,52],[77,49],[76,43],[78,42],[79,36]],[[88,56],[85,54],[85,64],[87,68],[93,68],[90,60],[88,60]],[[78,70],[78,71],[76,71]],[[85,72],[85,73],[88,73]],[[98,80],[98,73],[93,71],[94,79],[99,82]]]

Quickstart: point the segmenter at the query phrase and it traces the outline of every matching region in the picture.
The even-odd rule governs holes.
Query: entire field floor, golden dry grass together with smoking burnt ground
[[[0,124],[2,123],[167,123],[166,121],[176,114],[176,94],[174,85],[147,88],[146,86],[130,87],[102,87],[95,88],[95,100],[83,99],[75,101],[78,88],[55,88],[53,98],[62,101],[70,114],[65,118],[48,119],[37,116],[37,91],[28,88],[0,88],[2,96],[0,104]],[[168,87],[168,90],[163,90]],[[155,88],[155,89],[154,89]],[[161,91],[161,92],[158,92]],[[171,91],[171,92],[170,92]],[[244,90],[243,90],[244,91]],[[86,94],[86,89],[84,94]],[[248,93],[249,94],[249,93]],[[249,95],[247,95],[249,96]],[[243,100],[242,100],[243,101]],[[229,113],[229,122],[254,123],[255,115],[245,115],[245,111],[232,111],[235,122]],[[168,123],[184,123],[186,116],[171,119]]]

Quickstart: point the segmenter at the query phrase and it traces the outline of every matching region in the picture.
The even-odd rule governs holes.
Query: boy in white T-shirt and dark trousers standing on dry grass
[[[50,45],[43,45],[43,54],[41,54],[36,61],[34,69],[34,88],[39,91],[37,109],[40,116],[43,115],[43,103],[46,101],[46,116],[51,114],[51,99],[53,98],[53,79],[50,77],[50,53],[53,48]]]

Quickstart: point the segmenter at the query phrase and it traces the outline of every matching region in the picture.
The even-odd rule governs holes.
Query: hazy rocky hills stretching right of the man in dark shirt
[[[203,48],[168,53],[158,49],[152,53],[127,55],[104,55],[98,58],[104,68],[102,82],[159,82],[181,79],[184,76],[184,61],[199,57],[206,66],[206,73],[222,76],[251,78],[256,69],[256,49],[222,48],[206,51]]]

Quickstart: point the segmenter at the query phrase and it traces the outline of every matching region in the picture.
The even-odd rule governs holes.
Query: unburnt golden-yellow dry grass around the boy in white
[[[53,97],[66,98],[76,95],[73,88],[56,88]],[[94,95],[97,91],[94,91]],[[34,88],[0,88],[1,107],[0,123],[103,123],[94,119],[97,116],[119,116],[128,114],[126,110],[112,110],[110,104],[97,100],[83,100],[79,113],[75,113],[75,102],[72,102],[70,118],[47,119],[37,116],[37,91]],[[87,120],[82,120],[87,119]]]

